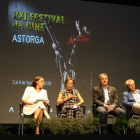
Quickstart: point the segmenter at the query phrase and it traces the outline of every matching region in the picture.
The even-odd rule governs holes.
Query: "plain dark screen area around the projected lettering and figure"
[[[74,20],[79,17],[87,23],[91,31],[90,44],[77,47],[77,59],[83,65],[77,69],[77,86],[85,100],[86,115],[92,115],[92,87],[98,86],[98,75],[105,72],[109,76],[109,85],[117,89],[122,105],[122,93],[126,91],[125,81],[134,79],[139,88],[139,44],[140,44],[140,8],[137,3],[109,3],[96,1],[5,1],[1,5],[1,45],[0,45],[0,123],[18,123],[19,107],[27,85],[12,84],[12,80],[32,81],[37,75],[51,81],[44,86],[48,92],[52,111],[56,116],[56,100],[60,91],[60,72],[56,68],[52,41],[47,33],[37,31],[19,31],[12,29],[12,11],[27,13],[56,14],[65,17],[65,24],[51,24],[53,31],[65,49],[73,33],[77,33]],[[15,8],[13,5],[17,5]],[[8,8],[9,7],[9,8]],[[11,11],[10,11],[10,10]],[[43,36],[45,44],[27,44],[12,42],[14,34]],[[85,55],[85,57],[81,57]],[[13,107],[14,112],[9,112]],[[124,108],[124,107],[123,107]],[[87,114],[90,112],[89,114]]]

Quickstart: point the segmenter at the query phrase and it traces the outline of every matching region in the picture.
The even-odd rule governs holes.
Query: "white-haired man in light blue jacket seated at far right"
[[[132,79],[127,80],[125,85],[128,91],[123,93],[123,105],[130,107],[132,114],[140,115],[140,90],[135,89]]]

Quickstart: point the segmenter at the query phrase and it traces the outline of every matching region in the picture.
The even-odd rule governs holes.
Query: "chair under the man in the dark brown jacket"
[[[119,105],[119,107],[121,107],[121,105]],[[97,109],[97,105],[95,103],[93,103],[92,112],[93,112],[94,117],[97,116],[96,109]],[[107,116],[107,124],[112,124],[113,131],[114,131],[114,124],[115,124],[116,118],[117,118],[117,116],[114,116],[113,114],[108,114],[108,116]],[[99,134],[101,134],[100,126],[99,126]]]

